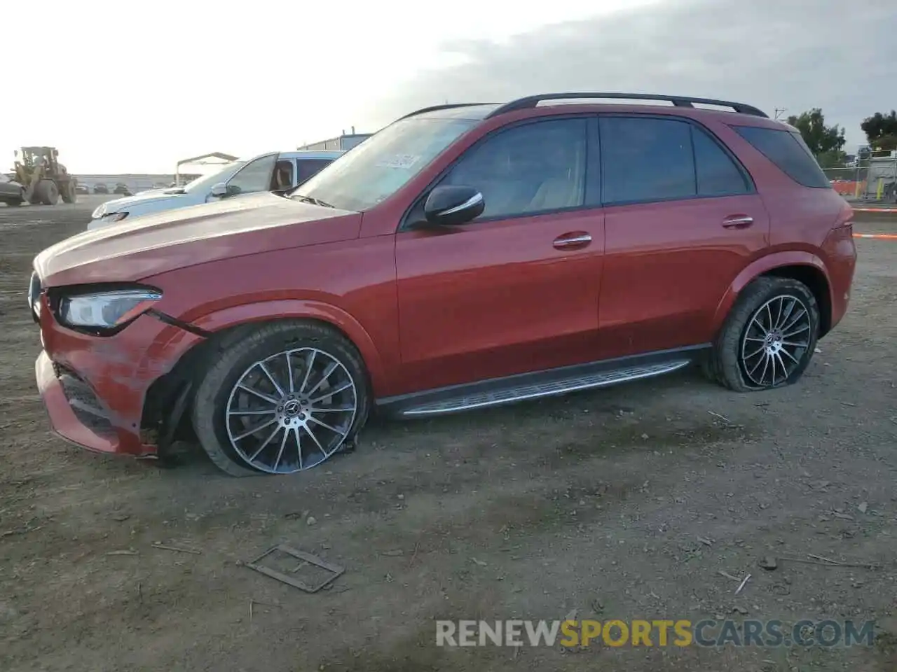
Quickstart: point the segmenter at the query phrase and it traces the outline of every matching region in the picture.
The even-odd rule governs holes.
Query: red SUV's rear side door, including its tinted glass
[[[746,169],[683,117],[602,116],[602,357],[708,342],[729,284],[769,244]]]

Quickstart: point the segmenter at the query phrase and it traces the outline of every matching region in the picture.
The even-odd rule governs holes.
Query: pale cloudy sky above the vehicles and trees
[[[6,25],[30,25],[26,6],[6,8]],[[550,91],[732,99],[770,116],[823,108],[847,151],[865,142],[864,117],[897,108],[893,0],[41,6],[39,32],[4,33],[31,73],[2,106],[9,168],[18,146],[47,144],[75,174],[171,173],[205,152],[291,150],[447,100]],[[50,83],[47,103],[29,95],[37,82]]]

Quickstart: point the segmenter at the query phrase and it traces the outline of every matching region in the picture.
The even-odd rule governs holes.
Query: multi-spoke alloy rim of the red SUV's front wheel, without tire
[[[231,447],[272,474],[308,470],[345,441],[358,410],[352,375],[324,350],[284,350],[254,362],[228,398]]]

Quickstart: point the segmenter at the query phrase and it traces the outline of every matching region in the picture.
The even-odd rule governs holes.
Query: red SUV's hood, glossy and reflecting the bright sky
[[[198,263],[358,237],[360,230],[361,212],[263,192],[84,231],[38,254],[34,268],[44,287],[129,282]]]

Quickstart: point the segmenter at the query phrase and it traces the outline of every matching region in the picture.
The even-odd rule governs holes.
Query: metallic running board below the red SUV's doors
[[[680,355],[682,354],[684,353],[680,353]],[[529,381],[520,384],[523,383],[523,381],[519,381],[516,385],[510,384],[507,387],[497,387],[486,391],[474,392],[468,390],[465,393],[462,390],[458,390],[457,392],[460,393],[457,394],[457,396],[440,395],[440,400],[424,403],[419,402],[415,404],[414,399],[407,399],[405,403],[401,404],[402,408],[397,409],[398,412],[396,415],[402,418],[435,416],[466,410],[483,409],[492,406],[501,406],[517,401],[552,397],[558,394],[577,392],[579,390],[591,390],[597,387],[605,387],[607,385],[640,380],[641,378],[651,378],[656,375],[669,374],[684,366],[690,365],[692,361],[692,358],[681,357],[667,359],[666,361],[652,364],[642,364],[640,366],[625,366],[623,368],[609,370],[605,369],[604,371],[589,374],[579,372],[579,375],[568,374],[563,377],[549,378],[537,383]],[[392,404],[385,405],[388,406]]]

